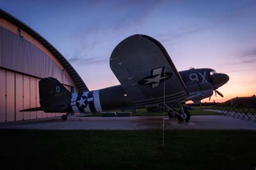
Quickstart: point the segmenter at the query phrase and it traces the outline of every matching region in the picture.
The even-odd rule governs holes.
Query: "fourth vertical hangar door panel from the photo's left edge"
[[[28,75],[23,75],[23,101],[24,101],[24,109],[29,109],[30,108],[30,90],[29,90],[29,76]],[[24,120],[29,120],[30,119],[30,112],[24,112]]]

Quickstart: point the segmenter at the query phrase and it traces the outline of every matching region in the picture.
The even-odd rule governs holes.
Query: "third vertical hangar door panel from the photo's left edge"
[[[23,75],[15,73],[15,109],[16,120],[23,120]]]

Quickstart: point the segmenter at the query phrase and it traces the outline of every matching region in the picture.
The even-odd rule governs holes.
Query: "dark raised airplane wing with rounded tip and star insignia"
[[[109,64],[137,107],[163,104],[163,100],[179,102],[188,97],[172,59],[163,45],[150,36],[133,35],[120,42]]]

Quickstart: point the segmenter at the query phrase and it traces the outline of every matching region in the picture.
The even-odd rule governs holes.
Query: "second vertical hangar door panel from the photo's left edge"
[[[6,121],[15,121],[15,73],[6,71]]]

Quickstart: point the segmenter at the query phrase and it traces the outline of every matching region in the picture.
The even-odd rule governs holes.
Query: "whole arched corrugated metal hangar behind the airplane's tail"
[[[58,50],[36,31],[0,9],[0,122],[61,116],[19,112],[40,107],[38,81],[58,79],[70,91],[88,88]]]

